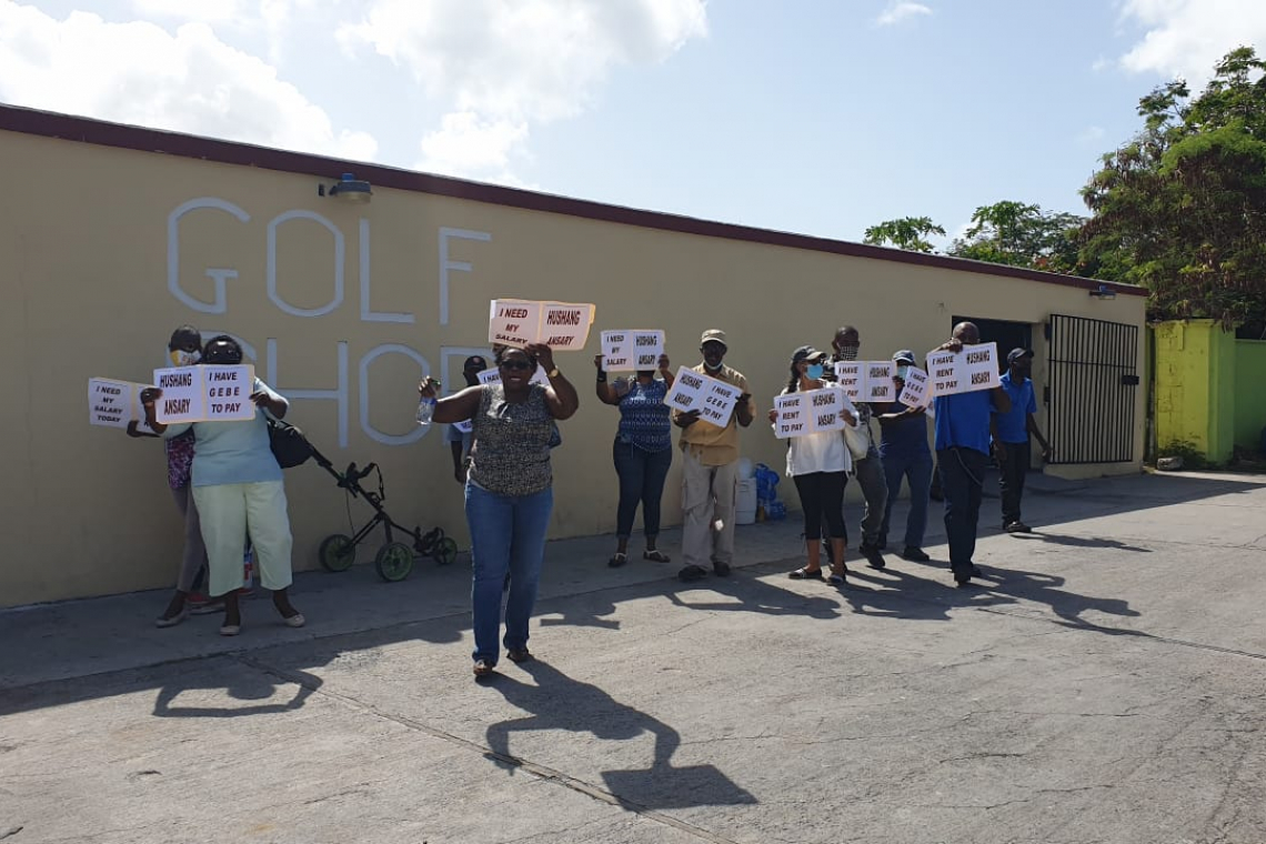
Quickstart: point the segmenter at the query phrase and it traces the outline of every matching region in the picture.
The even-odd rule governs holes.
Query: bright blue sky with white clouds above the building
[[[0,101],[860,240],[1084,214],[1266,0],[0,0]],[[351,167],[354,171],[354,167]]]

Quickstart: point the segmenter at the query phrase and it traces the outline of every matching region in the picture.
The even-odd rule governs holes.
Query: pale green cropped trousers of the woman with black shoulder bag
[[[248,535],[260,585],[271,591],[290,586],[292,539],[281,481],[195,486],[194,502],[203,521],[211,597],[242,587],[242,548]]]

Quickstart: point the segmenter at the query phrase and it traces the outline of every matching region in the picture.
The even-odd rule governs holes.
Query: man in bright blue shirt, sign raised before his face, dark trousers
[[[974,323],[958,323],[953,337],[937,351],[961,352],[977,343],[980,329]],[[976,553],[976,523],[989,462],[990,414],[1010,409],[1010,396],[1001,387],[936,397],[937,463],[946,499],[950,568],[960,588],[971,583],[972,574],[980,574],[971,557]]]

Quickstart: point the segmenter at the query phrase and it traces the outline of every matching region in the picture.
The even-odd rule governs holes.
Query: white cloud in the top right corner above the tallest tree
[[[1236,47],[1266,43],[1262,0],[1125,0],[1122,18],[1147,30],[1122,57],[1122,66],[1136,73],[1179,76],[1194,90]]]

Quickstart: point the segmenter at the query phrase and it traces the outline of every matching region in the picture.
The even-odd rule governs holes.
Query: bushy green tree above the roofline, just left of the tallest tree
[[[1004,200],[982,205],[971,215],[971,228],[955,239],[947,254],[1047,272],[1082,271],[1076,214],[1043,211],[1041,205]]]

